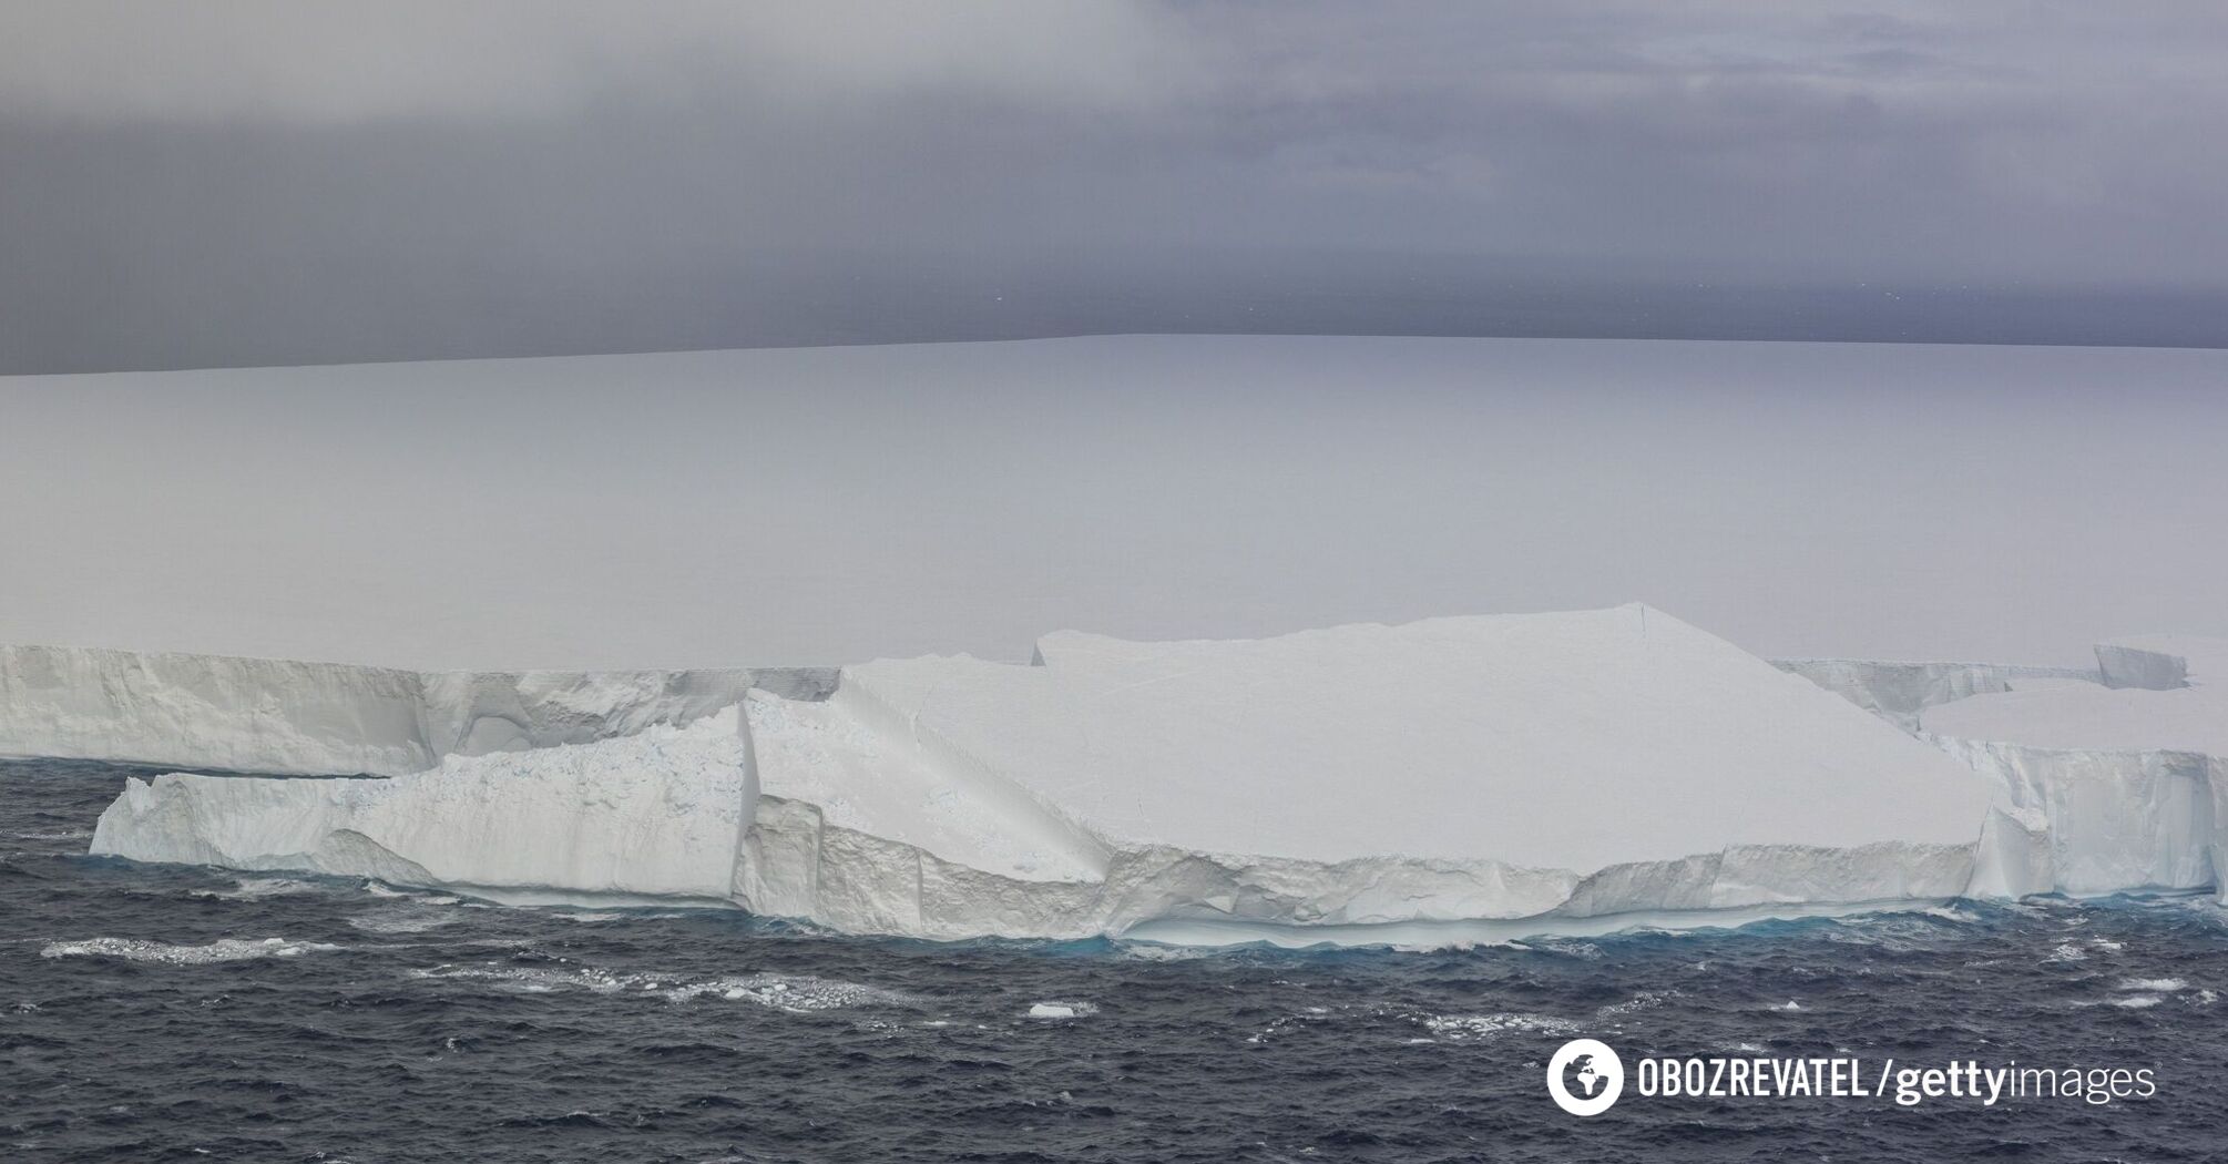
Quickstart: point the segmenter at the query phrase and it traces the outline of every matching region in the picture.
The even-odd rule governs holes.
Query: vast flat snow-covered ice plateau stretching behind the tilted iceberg
[[[1326,337],[18,377],[0,640],[782,665],[1644,600],[1767,656],[2083,662],[2228,629],[2221,384]]]

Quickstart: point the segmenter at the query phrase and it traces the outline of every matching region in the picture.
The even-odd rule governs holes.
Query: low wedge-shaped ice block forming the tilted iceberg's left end
[[[726,899],[758,789],[740,714],[394,778],[129,780],[91,852],[403,885]]]

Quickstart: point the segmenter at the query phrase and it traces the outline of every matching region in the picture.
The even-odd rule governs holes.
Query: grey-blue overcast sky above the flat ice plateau
[[[2224,60],[2195,2],[0,0],[0,370],[2219,343]]]

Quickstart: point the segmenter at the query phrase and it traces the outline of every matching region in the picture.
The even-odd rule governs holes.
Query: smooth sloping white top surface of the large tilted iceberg
[[[1054,633],[1038,658],[882,660],[842,685],[1110,845],[1586,872],[1970,843],[1987,805],[1941,751],[1644,607],[1239,642]]]

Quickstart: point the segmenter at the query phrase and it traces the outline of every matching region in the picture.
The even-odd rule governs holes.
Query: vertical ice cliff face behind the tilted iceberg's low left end
[[[0,647],[0,756],[399,776],[811,698],[831,669],[394,671],[336,662]]]

